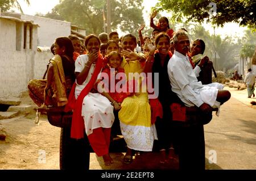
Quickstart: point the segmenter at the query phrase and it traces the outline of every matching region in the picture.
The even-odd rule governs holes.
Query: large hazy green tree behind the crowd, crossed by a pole
[[[138,34],[138,28],[143,23],[142,2],[139,0],[118,0],[110,1],[111,7],[111,28],[116,31],[118,28],[123,32]],[[104,12],[104,14],[103,14]],[[56,5],[46,18],[63,18],[72,24],[85,28],[87,34],[98,35],[104,32],[104,15],[106,17],[105,0],[62,0]],[[55,19],[55,18],[54,18]]]

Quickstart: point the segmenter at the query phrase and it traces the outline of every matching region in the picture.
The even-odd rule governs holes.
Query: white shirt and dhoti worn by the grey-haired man
[[[223,89],[224,86],[216,82],[203,85],[197,81],[188,56],[175,50],[167,67],[172,91],[179,96],[185,106],[200,107],[203,103],[212,107],[220,106],[220,103],[216,102],[216,98],[218,90]]]

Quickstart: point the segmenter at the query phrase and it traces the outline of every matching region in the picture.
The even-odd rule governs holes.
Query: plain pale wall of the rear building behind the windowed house
[[[40,47],[51,47],[57,37],[69,36],[71,34],[71,23],[55,19],[42,18],[21,14],[21,19],[34,21],[38,24],[38,45]]]

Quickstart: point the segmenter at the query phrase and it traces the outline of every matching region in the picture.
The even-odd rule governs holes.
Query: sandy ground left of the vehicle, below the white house
[[[26,94],[22,103],[33,104]],[[7,134],[0,141],[0,169],[59,169],[60,128],[49,124],[46,115],[35,124],[35,115],[0,120]]]

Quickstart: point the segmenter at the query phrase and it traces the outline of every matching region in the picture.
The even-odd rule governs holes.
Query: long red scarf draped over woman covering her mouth
[[[65,112],[73,110],[72,124],[71,124],[71,138],[80,139],[84,137],[84,119],[82,118],[82,102],[84,97],[92,90],[94,83],[97,80],[98,74],[102,69],[103,57],[101,54],[98,56],[96,68],[93,71],[92,78],[89,83],[80,92],[77,99],[75,99],[76,82],[73,84],[72,90],[69,94],[68,104],[65,106]]]

